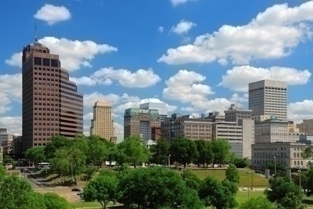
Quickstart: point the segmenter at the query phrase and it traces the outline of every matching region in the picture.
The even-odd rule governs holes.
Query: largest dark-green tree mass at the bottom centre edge
[[[197,192],[175,171],[162,167],[132,169],[120,175],[118,202],[138,208],[202,208]]]

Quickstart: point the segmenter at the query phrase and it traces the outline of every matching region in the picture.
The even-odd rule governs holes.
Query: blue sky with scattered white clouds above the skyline
[[[0,127],[22,134],[22,49],[59,54],[83,93],[84,134],[93,104],[125,109],[165,102],[169,115],[248,109],[248,83],[288,82],[288,119],[313,118],[313,1],[0,1]]]

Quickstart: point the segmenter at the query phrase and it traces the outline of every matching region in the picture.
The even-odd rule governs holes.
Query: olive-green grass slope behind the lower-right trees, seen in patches
[[[207,176],[215,176],[218,180],[225,179],[225,171],[224,169],[203,169],[203,170],[191,170],[195,175],[200,179],[204,179]],[[258,173],[247,173],[250,169],[238,169],[239,171],[239,187],[248,187],[249,180],[250,186],[253,187],[267,187],[268,180],[262,176],[259,176]],[[179,171],[180,172],[180,171]],[[253,183],[252,183],[252,175],[253,175]]]

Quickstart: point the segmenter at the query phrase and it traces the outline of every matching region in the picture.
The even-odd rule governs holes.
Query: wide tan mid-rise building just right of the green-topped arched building
[[[172,141],[182,136],[190,140],[211,141],[211,126],[211,119],[204,118],[203,114],[202,118],[194,118],[176,113],[161,123],[161,138]]]

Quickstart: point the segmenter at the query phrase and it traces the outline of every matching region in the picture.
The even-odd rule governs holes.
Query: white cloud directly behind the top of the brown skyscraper
[[[60,55],[62,68],[68,71],[78,70],[83,67],[92,67],[89,63],[97,54],[117,52],[118,48],[106,44],[93,42],[92,40],[69,40],[67,38],[45,37],[38,40],[42,45],[50,49],[51,54]],[[22,67],[22,53],[13,54],[6,60],[8,65]]]

